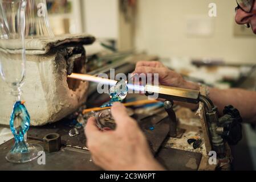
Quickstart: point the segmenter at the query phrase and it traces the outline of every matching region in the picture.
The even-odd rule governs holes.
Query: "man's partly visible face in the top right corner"
[[[254,34],[256,34],[256,1],[254,1],[253,10],[251,10],[250,13],[238,9],[237,14],[235,15],[235,22],[238,24],[249,23]]]

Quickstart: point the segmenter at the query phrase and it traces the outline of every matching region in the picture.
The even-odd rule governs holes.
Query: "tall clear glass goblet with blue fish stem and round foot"
[[[21,101],[25,80],[25,9],[26,0],[0,0],[0,74],[15,97],[10,129],[15,144],[6,155],[13,163],[25,163],[42,154],[42,146],[27,144],[30,115]]]

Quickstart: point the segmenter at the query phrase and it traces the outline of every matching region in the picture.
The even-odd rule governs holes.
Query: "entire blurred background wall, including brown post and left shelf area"
[[[234,22],[235,0],[47,0],[55,35],[88,32],[120,50],[136,48],[160,57],[256,60],[256,38]],[[217,17],[210,18],[209,3]]]

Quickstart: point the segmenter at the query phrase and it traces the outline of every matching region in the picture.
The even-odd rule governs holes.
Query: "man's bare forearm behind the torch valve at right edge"
[[[243,121],[256,123],[256,92],[243,89],[209,89],[209,97],[214,105],[218,107],[220,113],[227,105],[233,105],[237,108],[243,118]]]

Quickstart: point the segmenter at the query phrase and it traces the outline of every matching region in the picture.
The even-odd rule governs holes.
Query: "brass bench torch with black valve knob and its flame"
[[[79,78],[81,80],[95,81],[95,82],[104,82],[105,84],[113,84],[116,81],[108,80],[99,77],[92,77],[87,75],[70,76],[73,78]],[[171,137],[177,135],[177,123],[176,116],[172,109],[173,101],[187,102],[192,104],[198,104],[202,102],[204,104],[205,110],[205,126],[207,127],[210,142],[212,144],[212,150],[217,152],[219,159],[225,159],[226,156],[226,147],[225,142],[229,144],[237,144],[239,140],[242,139],[242,119],[239,115],[239,111],[233,106],[227,106],[224,110],[224,116],[219,118],[218,109],[214,106],[213,102],[206,96],[202,95],[200,91],[190,90],[190,89],[181,89],[174,88],[170,86],[163,85],[145,85],[145,86],[133,86],[128,85],[129,89],[140,88],[145,92],[146,96],[151,96],[154,94],[159,94],[159,98],[165,99],[165,110],[169,115],[169,134]],[[207,136],[207,135],[206,135]]]

